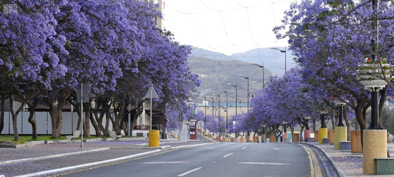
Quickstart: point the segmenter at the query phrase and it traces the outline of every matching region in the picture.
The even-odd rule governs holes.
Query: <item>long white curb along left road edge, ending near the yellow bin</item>
[[[109,159],[109,160],[102,160],[102,161],[99,161],[99,162],[91,162],[91,163],[81,164],[81,165],[76,165],[76,166],[70,166],[70,167],[64,167],[64,168],[58,168],[58,169],[51,169],[51,170],[47,170],[47,171],[39,171],[39,172],[36,172],[36,173],[29,173],[29,174],[25,174],[25,175],[14,176],[14,177],[43,176],[43,175],[48,175],[48,174],[52,174],[52,173],[59,173],[59,172],[63,172],[63,171],[70,171],[70,170],[74,170],[74,169],[88,168],[88,167],[91,167],[91,166],[98,166],[98,165],[102,165],[102,164],[108,164],[108,163],[111,163],[111,162],[118,162],[118,161],[121,161],[121,160],[126,160],[126,159],[130,159],[130,158],[136,158],[136,157],[147,155],[147,154],[153,154],[153,153],[157,153],[159,151],[162,151],[162,150],[161,149],[156,149],[156,150],[153,150],[153,151],[147,151],[147,152],[144,152],[144,153],[138,153],[138,154],[133,154],[133,155],[129,155],[129,156],[113,158],[113,159]]]

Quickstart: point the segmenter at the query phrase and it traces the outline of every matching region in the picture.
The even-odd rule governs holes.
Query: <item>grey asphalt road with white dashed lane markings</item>
[[[314,153],[312,153],[313,155]],[[315,159],[319,159],[319,155]],[[69,173],[67,177],[310,177],[310,156],[292,143],[218,143]],[[319,166],[318,162],[312,163]],[[323,164],[323,163],[322,163]],[[313,175],[330,176],[320,165]]]

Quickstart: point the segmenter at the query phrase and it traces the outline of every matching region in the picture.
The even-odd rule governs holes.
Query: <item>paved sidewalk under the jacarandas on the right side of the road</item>
[[[303,142],[307,143],[307,142]],[[350,150],[334,150],[334,145],[319,144],[310,142],[307,144],[314,145],[323,149],[336,164],[348,175],[348,177],[394,177],[394,175],[367,175],[362,173],[362,154],[351,154]],[[387,149],[391,157],[394,157],[394,144],[387,144]]]

